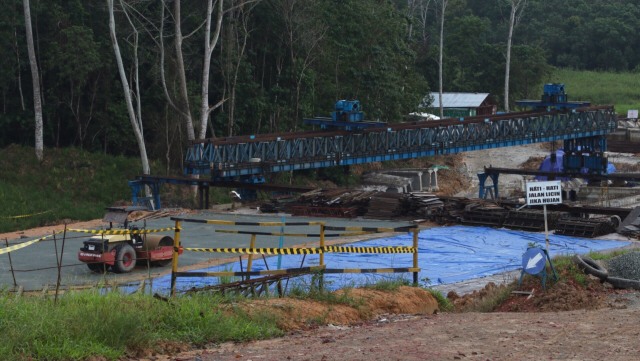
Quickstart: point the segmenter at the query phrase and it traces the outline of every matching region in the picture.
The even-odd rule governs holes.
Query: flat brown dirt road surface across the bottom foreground
[[[637,310],[388,317],[174,360],[638,360]]]

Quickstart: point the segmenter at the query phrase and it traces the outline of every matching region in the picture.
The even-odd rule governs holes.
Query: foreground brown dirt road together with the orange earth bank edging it
[[[424,295],[424,290],[411,287],[393,293],[364,290],[353,294],[367,300],[364,314],[347,306],[327,307],[309,301],[260,301],[249,308],[267,307],[288,315],[289,323],[283,325],[289,330],[286,336],[130,360],[640,359],[637,292],[607,290],[604,286],[587,295],[566,287],[546,295],[539,292],[531,298],[515,295],[517,301],[506,303],[525,305],[532,312],[433,313],[433,300]],[[553,294],[556,296],[550,296]],[[586,304],[588,309],[538,312],[539,304],[553,304],[562,299],[559,295],[567,302],[563,308]],[[572,302],[576,298],[592,299],[576,304]],[[367,316],[370,318],[363,320]],[[318,317],[324,317],[322,325],[317,324]]]

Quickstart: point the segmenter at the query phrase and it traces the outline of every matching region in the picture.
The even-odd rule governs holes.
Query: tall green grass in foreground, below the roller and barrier
[[[162,352],[162,341],[204,345],[282,332],[270,316],[249,317],[220,295],[165,302],[148,295],[83,291],[65,294],[57,304],[0,295],[0,334],[2,360],[115,360],[142,349]]]

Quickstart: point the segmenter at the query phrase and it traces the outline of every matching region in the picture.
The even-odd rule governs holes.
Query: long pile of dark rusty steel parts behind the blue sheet
[[[303,193],[288,203],[274,202],[260,206],[263,212],[274,209],[297,216],[365,217],[373,219],[422,218],[440,224],[469,224],[505,227],[530,232],[544,230],[542,209],[523,209],[521,204],[484,199],[438,197],[430,192],[396,193],[379,190],[317,189]],[[603,217],[593,210],[577,217],[570,211],[548,211],[547,227],[556,234],[593,238],[615,232],[621,223],[617,216]],[[584,213],[584,210],[583,212]],[[632,212],[634,220],[625,219],[620,229],[640,237],[640,208]],[[616,222],[617,218],[617,222]],[[628,218],[628,217],[627,217]]]

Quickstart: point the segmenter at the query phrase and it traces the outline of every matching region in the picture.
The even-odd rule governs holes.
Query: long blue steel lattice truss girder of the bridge
[[[508,115],[507,115],[508,116]],[[413,128],[383,129],[324,137],[292,137],[215,144],[194,144],[187,151],[185,173],[213,177],[322,168],[410,159],[463,151],[606,135],[616,128],[612,108],[568,113],[516,113],[512,118]],[[284,137],[283,137],[284,138]]]

